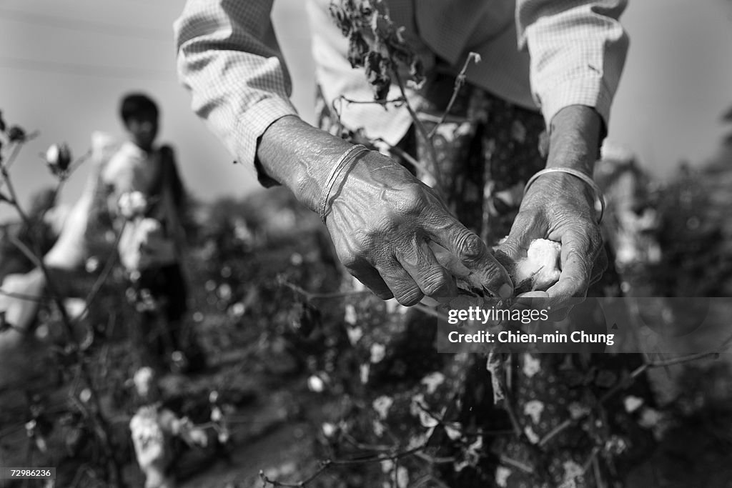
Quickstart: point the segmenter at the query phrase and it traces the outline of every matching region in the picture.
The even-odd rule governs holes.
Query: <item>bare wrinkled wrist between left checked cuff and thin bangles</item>
[[[268,176],[288,187],[307,208],[318,211],[332,165],[351,147],[296,116],[285,116],[266,129],[257,157]]]

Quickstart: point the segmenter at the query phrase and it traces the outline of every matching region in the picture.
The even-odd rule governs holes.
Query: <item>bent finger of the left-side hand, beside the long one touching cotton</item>
[[[406,250],[402,248],[396,258],[426,296],[457,296],[455,279],[440,265],[427,241],[414,242]]]

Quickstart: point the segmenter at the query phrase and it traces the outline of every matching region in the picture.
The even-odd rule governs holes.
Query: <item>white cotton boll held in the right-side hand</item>
[[[559,256],[561,244],[548,239],[534,239],[526,252],[526,258],[516,263],[514,282],[518,286],[531,281],[532,290],[547,290],[559,281]]]

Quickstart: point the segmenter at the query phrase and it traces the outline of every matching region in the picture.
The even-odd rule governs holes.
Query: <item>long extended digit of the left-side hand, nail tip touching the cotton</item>
[[[447,224],[427,229],[430,239],[451,252],[471,271],[467,277],[471,285],[501,298],[512,296],[513,282],[508,271],[493,257],[485,243],[449,214],[445,220]]]

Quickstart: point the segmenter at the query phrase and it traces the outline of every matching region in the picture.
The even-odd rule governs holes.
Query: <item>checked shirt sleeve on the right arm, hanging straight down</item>
[[[627,0],[518,0],[519,45],[531,56],[531,91],[549,127],[559,110],[586,105],[608,126],[628,37]]]

